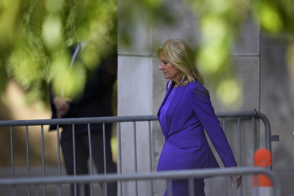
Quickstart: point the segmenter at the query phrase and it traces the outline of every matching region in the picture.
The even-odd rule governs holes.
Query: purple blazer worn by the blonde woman
[[[236,166],[232,149],[211,105],[209,92],[198,81],[189,82],[186,86],[174,89],[175,92],[166,111],[165,122],[160,122],[160,109],[173,86],[174,83],[168,88],[167,84],[166,95],[157,113],[165,137],[157,171],[219,168],[203,128],[224,166]]]

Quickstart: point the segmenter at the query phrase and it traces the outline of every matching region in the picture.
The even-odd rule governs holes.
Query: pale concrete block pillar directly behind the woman
[[[127,20],[125,12],[134,14],[132,5],[124,0],[118,1],[118,115],[156,115],[165,95],[167,80],[158,70],[159,60],[155,48],[168,38],[179,37],[191,47],[199,43],[198,21],[181,1],[165,2],[164,12],[173,13],[177,19],[174,23],[162,24],[153,17],[152,12],[138,13],[133,22]],[[130,13],[130,14],[131,14]],[[122,32],[131,33],[135,40],[131,47],[125,47]],[[240,40],[232,52],[231,66],[244,83],[243,105],[240,110],[259,110],[259,29],[251,20],[244,23]],[[204,76],[205,77],[205,76]],[[218,102],[211,84],[206,81],[213,107],[216,112],[227,111]],[[149,172],[148,124],[136,124],[138,172]],[[122,172],[134,173],[134,136],[133,123],[122,123]],[[242,166],[253,165],[253,141],[251,119],[241,119],[241,163]],[[258,120],[255,121],[258,130]],[[233,149],[236,161],[238,158],[237,119],[226,120],[226,134]],[[164,138],[158,122],[152,123],[152,168],[156,171],[157,162],[164,144]],[[222,165],[219,157],[217,159]],[[215,177],[213,195],[224,192],[224,177]],[[240,190],[230,187],[228,195],[236,195]],[[210,181],[205,180],[205,191],[209,195]],[[150,195],[149,182],[138,183],[138,195]],[[153,181],[153,195],[163,195],[164,180]],[[123,195],[135,195],[134,182],[123,183]],[[251,177],[243,177],[243,195],[251,195]]]

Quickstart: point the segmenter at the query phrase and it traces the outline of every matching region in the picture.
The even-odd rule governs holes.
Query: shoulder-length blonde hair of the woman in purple
[[[194,60],[194,52],[186,42],[179,38],[165,40],[162,46],[156,50],[158,58],[162,50],[171,64],[180,70],[179,86],[185,86],[189,82],[194,83],[195,80],[199,81],[202,85],[204,84],[203,77],[198,71]]]

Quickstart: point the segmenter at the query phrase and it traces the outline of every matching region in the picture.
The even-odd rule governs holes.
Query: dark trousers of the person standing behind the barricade
[[[112,153],[110,146],[111,126],[105,124],[105,156],[106,156],[106,172],[116,173],[116,165],[112,161]],[[60,144],[62,146],[63,157],[65,160],[66,172],[68,175],[74,175],[74,156],[73,156],[73,136],[72,129],[65,129],[61,133]],[[91,132],[91,151],[92,160],[94,160],[97,172],[104,174],[104,156],[103,156],[103,132]],[[89,174],[89,136],[88,133],[75,135],[75,160],[76,175]],[[104,184],[101,184],[103,187]],[[80,186],[77,184],[77,195],[79,195]],[[85,195],[89,195],[89,184],[84,185]],[[71,193],[74,195],[74,184],[71,185]],[[107,183],[107,195],[113,196],[117,194],[117,183]],[[94,194],[95,195],[95,194]]]

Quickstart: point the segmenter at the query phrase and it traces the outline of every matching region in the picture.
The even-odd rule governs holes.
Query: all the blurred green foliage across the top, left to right
[[[159,27],[179,22],[177,14],[169,11],[171,2],[167,1],[120,0],[118,5],[116,0],[0,1],[0,91],[5,89],[7,78],[15,78],[27,92],[27,103],[46,100],[48,83],[53,80],[56,92],[64,85],[65,96],[75,96],[83,89],[86,77],[81,64],[93,69],[107,51],[99,37],[115,46],[117,36],[122,45],[141,44],[141,40],[134,39],[134,28],[152,31],[153,19]],[[262,32],[272,35],[293,35],[294,0],[183,2],[199,21],[201,39],[195,54],[199,70],[217,84],[217,95],[224,104],[238,108],[243,84],[234,74],[229,55],[244,21],[253,18]],[[119,16],[117,7],[121,9]],[[93,41],[96,45],[89,44],[81,54],[83,62],[75,62],[70,70],[71,53],[66,48],[78,41]],[[293,56],[290,46],[290,67]]]

